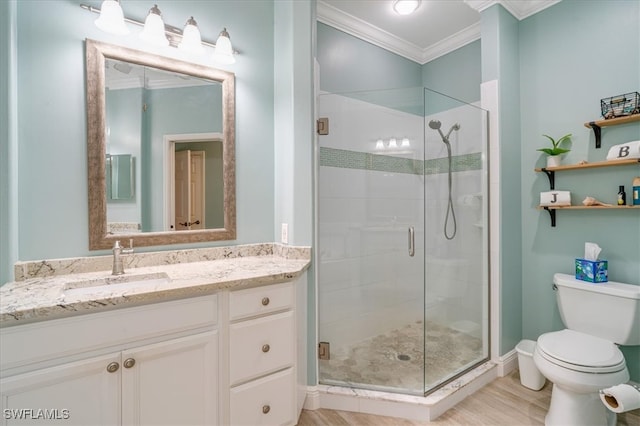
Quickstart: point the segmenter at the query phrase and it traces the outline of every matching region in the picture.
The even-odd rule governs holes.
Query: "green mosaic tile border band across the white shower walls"
[[[482,170],[481,157],[482,154],[479,152],[453,156],[451,158],[451,169],[453,172]],[[346,149],[320,147],[320,166],[413,175],[423,173],[425,175],[432,175],[447,173],[449,170],[449,160],[447,158],[435,158],[423,161],[393,157],[390,155],[370,154],[368,152],[349,151]]]

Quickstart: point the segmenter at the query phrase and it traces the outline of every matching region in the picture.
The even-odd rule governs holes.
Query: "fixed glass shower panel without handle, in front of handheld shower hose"
[[[425,390],[489,357],[487,112],[425,89]]]

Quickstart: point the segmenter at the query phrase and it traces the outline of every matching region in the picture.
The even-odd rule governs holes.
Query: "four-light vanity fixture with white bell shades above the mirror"
[[[224,28],[220,32],[215,44],[202,40],[200,30],[193,16],[187,20],[184,30],[181,30],[163,22],[158,5],[154,5],[149,10],[149,15],[147,15],[144,24],[124,16],[119,0],[104,0],[101,9],[86,4],[80,4],[80,7],[89,12],[100,14],[100,17],[96,20],[96,26],[110,34],[128,34],[129,29],[125,25],[125,22],[128,22],[143,27],[140,38],[156,46],[178,47],[180,50],[197,55],[203,54],[203,47],[208,46],[214,49],[213,60],[215,62],[227,65],[236,62],[235,55],[238,54],[238,51],[231,46],[231,37],[227,29]]]

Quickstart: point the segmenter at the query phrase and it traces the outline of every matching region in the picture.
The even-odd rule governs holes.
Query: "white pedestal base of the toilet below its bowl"
[[[615,426],[616,413],[609,411],[597,392],[575,393],[553,385],[545,426]]]

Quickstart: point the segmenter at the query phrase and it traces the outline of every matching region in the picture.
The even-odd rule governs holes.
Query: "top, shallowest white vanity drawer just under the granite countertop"
[[[233,291],[229,295],[231,320],[246,318],[293,307],[295,289],[292,282]]]

